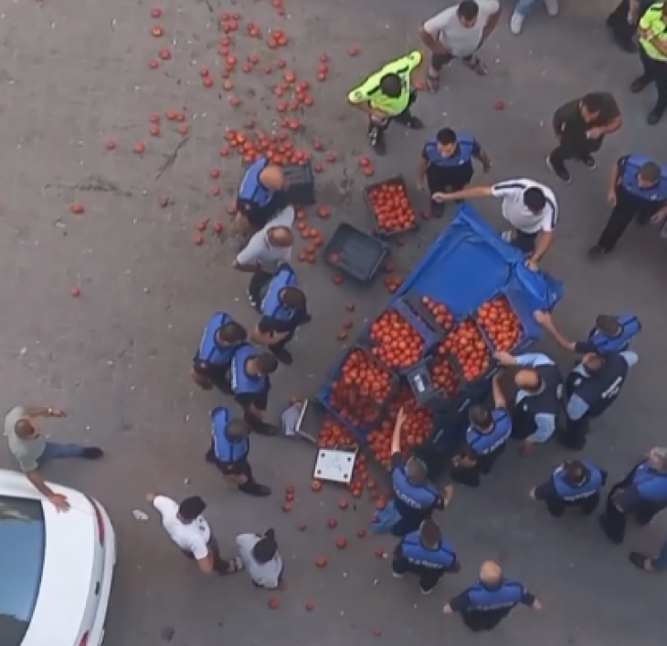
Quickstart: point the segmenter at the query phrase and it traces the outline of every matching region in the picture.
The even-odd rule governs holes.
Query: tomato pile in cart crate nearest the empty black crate
[[[371,326],[373,355],[388,368],[408,368],[421,358],[424,341],[397,312],[385,312]]]

